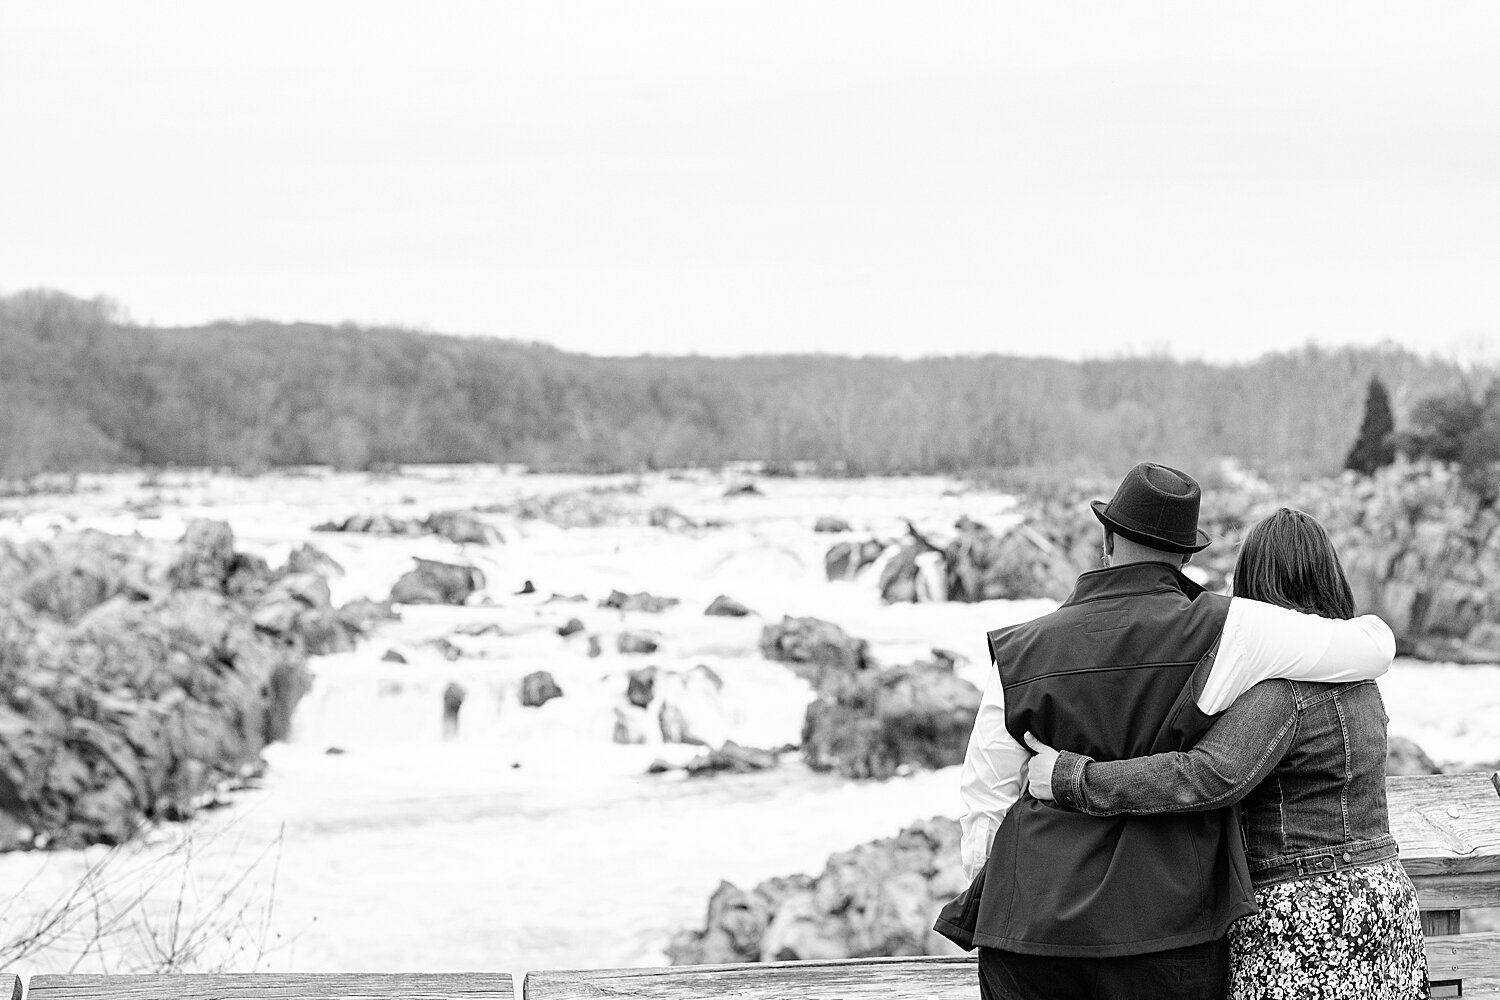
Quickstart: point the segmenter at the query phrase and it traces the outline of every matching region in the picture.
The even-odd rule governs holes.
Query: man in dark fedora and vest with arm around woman
[[[1378,618],[1302,615],[1184,576],[1210,544],[1198,501],[1185,472],[1137,465],[1092,505],[1102,568],[1053,613],[988,634],[996,670],[962,778],[974,882],[936,925],[980,948],[986,999],[1221,997],[1226,933],[1256,910],[1233,810],[1056,808],[1022,795],[1026,733],[1095,760],[1186,750],[1260,681],[1374,679],[1395,655]]]

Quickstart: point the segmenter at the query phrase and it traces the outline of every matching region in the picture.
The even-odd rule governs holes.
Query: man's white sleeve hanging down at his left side
[[[980,699],[980,714],[969,733],[958,793],[963,796],[960,853],[963,873],[974,879],[990,858],[990,844],[1006,810],[1022,798],[1022,765],[1030,751],[1005,729],[1005,688],[998,670],[990,672]]]

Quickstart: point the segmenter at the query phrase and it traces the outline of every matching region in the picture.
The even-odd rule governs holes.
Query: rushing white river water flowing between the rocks
[[[468,559],[486,589],[468,607],[410,607],[351,654],[314,661],[312,691],[292,739],[270,748],[261,787],[186,828],[164,828],[140,858],[178,867],[194,838],[192,877],[153,891],[158,909],[186,897],[189,913],[224,909],[220,891],[250,877],[236,900],[254,904],[246,927],[273,951],[261,969],[524,970],[663,961],[672,931],[700,924],[722,879],[747,886],[795,871],[816,873],[828,855],[894,834],[912,820],[958,811],[956,769],[849,783],[796,763],[756,775],[686,780],[646,775],[657,757],[681,762],[692,747],[612,742],[626,673],[711,667],[723,679],[723,736],[774,747],[796,742],[810,691],[758,654],[760,627],[780,615],[814,615],[868,637],[886,661],[933,646],[954,649],[972,679],[984,670],[982,634],[1052,607],[1047,601],[882,606],[868,580],[828,583],[814,535],[818,514],[858,531],[896,535],[910,517],[940,528],[958,514],[1000,522],[1005,496],[964,492],[940,480],[762,481],[765,496],[724,498],[724,480],[654,477],[612,504],[670,504],[726,526],[669,532],[645,526],[560,529],[496,517],[506,544],[453,546],[435,538],[314,534],[310,526],[357,511],[411,517],[518,495],[621,484],[624,480],[524,477],[495,469],[417,469],[402,477],[278,475],[254,480],[182,474],[86,480],[84,492],[0,505],[0,532],[48,534],[99,526],[176,537],[188,519],[230,520],[244,547],[276,561],[314,541],[345,573],[339,601],[384,597],[411,556]],[[537,589],[519,595],[522,583]],[[597,607],[610,589],[678,597],[662,615]],[[549,601],[554,594],[586,601]],[[729,594],[758,613],[705,618]],[[556,625],[582,619],[604,639],[586,655],[585,636]],[[492,627],[486,634],[474,636]],[[621,628],[662,636],[651,657],[614,652]],[[460,657],[432,645],[447,639]],[[394,649],[406,663],[388,663]],[[544,669],[564,697],[522,708],[520,678]],[[465,691],[459,732],[442,733],[442,694]],[[1438,760],[1500,756],[1500,669],[1398,663],[1382,682],[1392,732]],[[328,750],[340,753],[327,753]],[[788,759],[792,760],[790,757]],[[272,855],[266,855],[268,846]],[[16,913],[56,898],[102,852],[0,858],[4,897]],[[260,861],[258,861],[260,859]],[[183,886],[188,886],[186,889]],[[273,901],[267,915],[264,904]],[[0,921],[4,918],[0,916]],[[6,925],[0,924],[0,931]],[[244,928],[242,928],[244,930]],[[279,936],[279,937],[278,937]],[[120,948],[132,948],[122,943]],[[28,958],[22,972],[63,969],[62,949]],[[86,967],[118,957],[86,960]],[[249,966],[254,955],[234,964]]]

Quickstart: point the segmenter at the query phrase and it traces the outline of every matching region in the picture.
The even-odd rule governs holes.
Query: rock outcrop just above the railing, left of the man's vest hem
[[[832,855],[818,877],[720,883],[704,928],[676,934],[668,955],[674,966],[951,955],[933,916],[966,886],[958,823],[924,820]]]

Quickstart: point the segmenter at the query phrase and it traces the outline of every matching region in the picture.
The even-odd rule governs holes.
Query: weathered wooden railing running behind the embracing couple
[[[1434,997],[1500,1000],[1500,931],[1462,930],[1462,913],[1500,907],[1500,774],[1389,778],[1390,826],[1416,883]],[[394,931],[394,928],[393,928]],[[530,972],[524,1000],[974,1000],[975,960],[849,961]],[[0,1000],[21,1000],[0,976]],[[34,976],[26,1000],[510,1000],[508,975]]]

